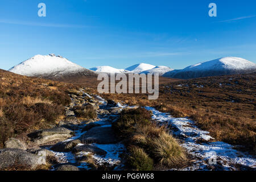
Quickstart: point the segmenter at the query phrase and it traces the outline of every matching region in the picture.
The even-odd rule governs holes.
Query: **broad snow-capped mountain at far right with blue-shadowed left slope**
[[[197,78],[207,76],[233,75],[252,73],[256,71],[256,64],[241,57],[222,57],[220,59],[205,61],[190,65],[184,69],[164,73],[164,77]]]

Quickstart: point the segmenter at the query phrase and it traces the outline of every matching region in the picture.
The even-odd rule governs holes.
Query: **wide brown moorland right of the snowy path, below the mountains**
[[[146,94],[101,96],[128,105],[153,106],[174,117],[189,117],[216,140],[241,145],[241,150],[256,154],[255,81],[256,73],[164,82],[155,101],[148,101]]]

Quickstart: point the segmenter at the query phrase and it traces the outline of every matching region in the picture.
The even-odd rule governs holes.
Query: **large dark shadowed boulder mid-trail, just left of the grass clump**
[[[109,144],[117,143],[118,139],[115,137],[111,126],[108,127],[93,127],[80,137],[82,143],[98,143]]]

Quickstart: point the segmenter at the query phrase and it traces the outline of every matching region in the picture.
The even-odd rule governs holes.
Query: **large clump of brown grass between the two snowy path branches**
[[[141,158],[146,160],[145,154],[154,160],[154,165],[163,167],[180,167],[187,160],[177,140],[165,127],[152,123],[150,112],[144,108],[123,110],[121,117],[112,127],[125,140],[127,148],[133,149],[127,158],[133,159],[128,162],[133,167],[138,166],[138,170],[142,169],[139,164],[144,166]],[[135,159],[138,161],[134,161]]]

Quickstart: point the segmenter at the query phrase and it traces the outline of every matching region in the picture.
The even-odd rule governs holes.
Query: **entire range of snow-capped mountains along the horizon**
[[[256,64],[240,57],[223,57],[190,65],[184,69],[171,69],[166,66],[155,66],[141,63],[126,69],[100,66],[86,69],[54,54],[36,55],[9,69],[10,72],[25,76],[51,78],[57,80],[68,76],[97,76],[98,73],[159,73],[160,76],[172,78],[197,78],[218,75],[252,73]]]

